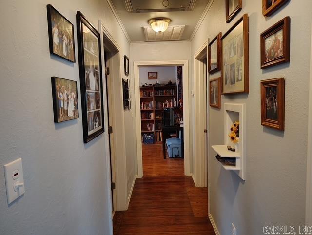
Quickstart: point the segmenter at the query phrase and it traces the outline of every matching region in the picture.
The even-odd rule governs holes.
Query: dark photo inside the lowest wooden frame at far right
[[[277,86],[266,87],[266,118],[278,121]]]

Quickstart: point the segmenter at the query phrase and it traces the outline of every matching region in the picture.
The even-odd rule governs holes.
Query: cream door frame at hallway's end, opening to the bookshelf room
[[[137,177],[143,177],[142,140],[141,140],[141,114],[140,114],[140,78],[139,67],[149,66],[182,66],[183,81],[183,121],[184,121],[184,174],[190,173],[190,114],[189,114],[189,66],[188,60],[161,60],[161,61],[136,61],[134,62],[135,80],[135,110],[137,130]]]

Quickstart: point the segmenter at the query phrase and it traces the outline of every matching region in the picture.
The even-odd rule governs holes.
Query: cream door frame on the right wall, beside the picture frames
[[[202,59],[206,58],[206,65]],[[209,135],[207,131],[207,142],[205,141],[205,127],[208,120],[209,109],[205,107],[208,103],[205,92],[205,84],[208,83],[208,69],[203,73],[204,66],[208,65],[208,39],[198,48],[194,54],[194,96],[195,96],[195,135],[193,143],[193,180],[196,187],[207,187],[209,182]],[[205,100],[207,100],[205,104]],[[207,112],[206,112],[207,111]],[[207,122],[206,122],[207,123]],[[207,148],[205,147],[207,146]],[[209,190],[209,187],[208,187]]]

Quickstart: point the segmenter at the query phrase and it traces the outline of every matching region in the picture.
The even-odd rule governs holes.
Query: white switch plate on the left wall
[[[4,165],[6,196],[8,205],[25,193],[21,158]],[[14,189],[14,186],[20,185]]]

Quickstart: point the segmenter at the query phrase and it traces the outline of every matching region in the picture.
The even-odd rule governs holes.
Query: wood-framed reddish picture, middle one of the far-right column
[[[261,69],[290,61],[290,25],[285,17],[260,35]]]

